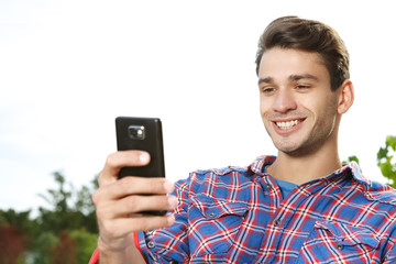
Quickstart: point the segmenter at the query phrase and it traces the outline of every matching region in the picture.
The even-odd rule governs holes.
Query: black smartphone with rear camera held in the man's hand
[[[150,164],[123,167],[119,178],[125,176],[165,177],[162,124],[158,118],[116,118],[118,151],[141,150],[151,155]],[[166,211],[144,211],[143,215],[163,216]]]

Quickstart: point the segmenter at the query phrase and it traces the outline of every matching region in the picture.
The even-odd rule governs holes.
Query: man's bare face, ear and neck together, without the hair
[[[263,122],[278,150],[271,175],[304,184],[340,168],[338,128],[353,102],[351,81],[332,90],[319,53],[279,47],[263,54],[258,78]]]

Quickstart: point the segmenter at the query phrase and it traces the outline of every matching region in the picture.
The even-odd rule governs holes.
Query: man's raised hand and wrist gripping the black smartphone
[[[99,224],[101,263],[107,257],[111,263],[143,261],[134,246],[133,232],[169,227],[175,221],[172,215],[154,217],[139,213],[174,209],[177,206],[176,197],[167,196],[174,189],[170,182],[139,175],[118,179],[122,167],[144,166],[148,163],[150,155],[142,151],[117,152],[106,161],[99,175],[99,188],[92,196]]]

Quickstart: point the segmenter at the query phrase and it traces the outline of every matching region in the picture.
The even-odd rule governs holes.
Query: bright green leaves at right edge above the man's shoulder
[[[385,140],[385,147],[381,147],[377,153],[377,165],[394,188],[396,188],[396,162],[393,160],[395,153],[396,136],[388,135]]]

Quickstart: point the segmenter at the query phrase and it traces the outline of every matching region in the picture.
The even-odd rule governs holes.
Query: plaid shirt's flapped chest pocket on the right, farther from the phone
[[[378,243],[375,234],[364,227],[318,221],[297,263],[372,263]]]

